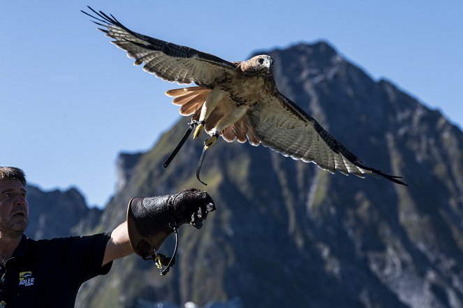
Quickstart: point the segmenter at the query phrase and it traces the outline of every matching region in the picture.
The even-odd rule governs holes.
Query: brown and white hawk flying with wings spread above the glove
[[[228,142],[262,144],[295,160],[314,162],[332,174],[378,175],[406,185],[400,176],[369,167],[332,137],[294,102],[278,91],[274,62],[265,54],[247,61],[226,61],[191,47],[131,31],[114,16],[89,9],[85,13],[111,43],[124,49],[135,66],[168,82],[196,84],[166,91],[180,106],[182,116],[192,116],[199,125],[193,138],[205,130],[210,135],[205,150],[221,136]],[[205,151],[204,150],[204,151]],[[205,153],[203,151],[203,153]],[[198,176],[198,172],[197,172]],[[199,176],[198,176],[199,179]]]

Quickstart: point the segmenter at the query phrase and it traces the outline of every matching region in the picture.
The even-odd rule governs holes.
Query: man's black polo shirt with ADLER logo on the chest
[[[52,240],[23,235],[0,266],[0,308],[74,307],[80,285],[109,272],[112,262],[101,267],[109,239],[104,233]]]

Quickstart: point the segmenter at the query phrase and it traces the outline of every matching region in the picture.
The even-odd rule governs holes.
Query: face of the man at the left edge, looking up
[[[26,230],[29,204],[20,180],[0,179],[0,237],[17,238]]]

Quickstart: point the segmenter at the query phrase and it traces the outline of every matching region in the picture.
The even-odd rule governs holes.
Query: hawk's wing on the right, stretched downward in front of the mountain
[[[284,156],[314,162],[321,169],[342,174],[378,174],[392,182],[406,185],[398,178],[373,169],[330,135],[304,110],[278,91],[247,112],[247,122],[256,139]]]

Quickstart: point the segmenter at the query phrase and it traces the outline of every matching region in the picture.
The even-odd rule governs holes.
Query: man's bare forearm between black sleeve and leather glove
[[[128,239],[127,222],[123,222],[112,231],[111,238],[108,240],[108,244],[106,244],[105,256],[103,256],[103,263],[101,266],[110,263],[112,260],[128,256],[129,254],[133,254],[133,249]]]

